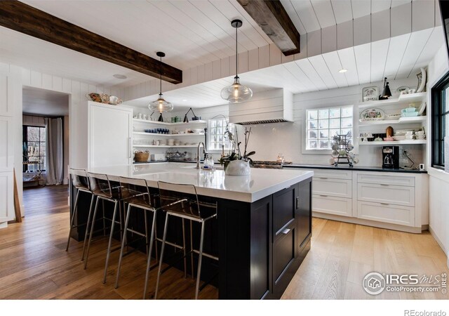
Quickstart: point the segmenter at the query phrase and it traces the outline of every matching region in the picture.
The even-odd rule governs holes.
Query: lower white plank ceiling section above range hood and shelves
[[[254,93],[270,88],[286,88],[293,93],[343,88],[359,84],[382,86],[389,80],[416,78],[420,67],[427,67],[443,45],[443,29],[424,29],[361,46],[295,60],[273,67],[240,74],[241,83]],[[342,68],[348,71],[338,72]],[[164,93],[175,107],[222,105],[220,91],[232,84],[232,77],[196,84]],[[148,96],[126,104],[146,107],[157,96]]]

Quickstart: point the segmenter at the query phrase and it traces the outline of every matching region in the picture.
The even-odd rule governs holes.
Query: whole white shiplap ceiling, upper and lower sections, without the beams
[[[267,46],[272,41],[236,0],[177,1],[24,1],[152,57],[164,51],[164,62],[186,70],[234,55],[233,18],[243,19],[239,51]],[[400,6],[410,0],[281,0],[300,33],[360,18]],[[149,77],[109,62],[70,51],[11,29],[0,27],[0,61],[69,79],[132,86]],[[257,92],[287,88],[294,93],[368,84],[383,77],[414,77],[443,44],[441,27],[425,29],[370,44],[288,62],[241,74]],[[342,67],[349,71],[338,73]],[[128,79],[114,79],[125,74]],[[178,105],[204,107],[222,104],[220,90],[232,78],[210,81],[164,93]],[[145,106],[154,96],[135,100]],[[184,101],[187,100],[187,101]]]

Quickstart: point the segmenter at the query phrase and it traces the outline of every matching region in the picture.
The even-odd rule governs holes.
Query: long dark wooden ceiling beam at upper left
[[[0,1],[0,25],[151,77],[162,73],[172,84],[182,82],[182,70],[20,1]]]

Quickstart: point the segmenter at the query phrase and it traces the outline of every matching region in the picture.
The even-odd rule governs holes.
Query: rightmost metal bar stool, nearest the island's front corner
[[[217,216],[217,204],[199,202],[198,194],[196,193],[196,187],[194,185],[184,185],[184,184],[175,184],[158,181],[158,187],[159,187],[159,197],[161,199],[161,209],[166,212],[166,221],[163,228],[161,258],[159,259],[159,270],[156,280],[156,292],[154,294],[154,299],[157,298],[157,293],[159,290],[159,279],[161,277],[161,274],[163,273],[161,272],[163,251],[166,245],[168,218],[170,216],[182,218],[182,238],[183,238],[182,251],[184,252],[184,259],[186,259],[186,256],[188,255],[186,252],[186,244],[185,244],[184,220],[185,219],[190,220],[191,249],[189,251],[189,254],[192,260],[192,277],[193,277],[193,253],[199,254],[198,270],[196,272],[196,288],[195,288],[195,299],[198,299],[199,283],[201,279],[201,263],[203,260],[203,256],[207,256],[208,258],[212,258],[218,261],[218,258],[216,256],[212,256],[210,254],[206,254],[203,252],[204,225],[208,220],[215,218]],[[206,207],[210,209],[210,211],[205,212],[203,210],[203,213],[201,213],[200,206],[201,209],[203,209],[203,207]],[[192,221],[201,223],[201,237],[200,237],[199,250],[193,249],[192,245]],[[165,270],[167,270],[168,268],[166,268]],[[147,272],[148,269],[149,266],[147,265]],[[185,276],[186,276],[186,261],[185,261]]]

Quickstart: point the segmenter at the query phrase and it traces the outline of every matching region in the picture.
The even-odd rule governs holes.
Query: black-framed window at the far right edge
[[[449,136],[449,72],[438,81],[431,90],[432,131],[431,160],[432,166],[444,168],[444,137]]]

